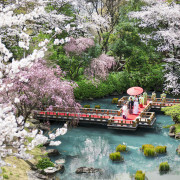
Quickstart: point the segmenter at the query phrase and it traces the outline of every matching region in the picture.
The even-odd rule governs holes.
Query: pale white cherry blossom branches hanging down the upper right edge
[[[173,94],[180,93],[180,5],[164,0],[144,0],[148,3],[139,12],[129,16],[140,20],[141,28],[151,28],[150,34],[144,34],[142,40],[153,39],[159,43],[157,50],[164,52],[165,90]]]

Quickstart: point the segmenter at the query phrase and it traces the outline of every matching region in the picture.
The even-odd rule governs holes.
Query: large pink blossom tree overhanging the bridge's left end
[[[48,68],[45,61],[38,60],[30,68],[21,68],[14,78],[4,78],[0,90],[0,103],[11,102],[17,117],[27,120],[32,110],[43,103],[57,107],[75,107],[73,88],[75,84],[62,80],[63,72],[57,66]]]

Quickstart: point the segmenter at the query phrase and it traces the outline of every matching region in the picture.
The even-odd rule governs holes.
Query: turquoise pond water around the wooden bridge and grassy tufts
[[[110,101],[112,97],[83,102],[82,104],[97,103],[101,108],[117,109]],[[93,107],[92,106],[92,107]],[[179,145],[178,140],[168,136],[168,129],[165,125],[172,124],[169,116],[164,116],[156,112],[157,121],[151,129],[138,129],[135,132],[110,130],[103,127],[77,127],[70,129],[66,135],[58,137],[62,144],[57,148],[60,156],[52,158],[65,159],[65,172],[58,174],[61,180],[86,180],[86,179],[131,179],[131,176],[137,170],[143,170],[148,179],[152,180],[178,180],[180,179],[180,156],[176,154],[176,148]],[[59,127],[59,124],[53,124],[51,128]],[[118,144],[125,144],[128,152],[122,153],[124,162],[113,163],[109,159],[109,154],[114,152]],[[143,144],[165,145],[167,154],[158,157],[148,158],[140,151]],[[166,175],[159,175],[158,166],[161,162],[168,161],[171,172]],[[101,168],[102,174],[76,174],[78,167]]]

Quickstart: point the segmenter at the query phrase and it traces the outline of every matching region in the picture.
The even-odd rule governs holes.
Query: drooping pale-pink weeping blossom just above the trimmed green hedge
[[[114,65],[114,57],[102,54],[91,61],[90,66],[85,70],[85,75],[105,80],[108,76],[109,70]]]

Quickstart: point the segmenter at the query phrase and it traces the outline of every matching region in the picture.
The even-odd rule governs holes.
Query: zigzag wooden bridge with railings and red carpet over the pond
[[[122,106],[128,101],[128,96],[123,96],[117,106]],[[156,121],[155,113],[149,112],[151,108],[161,108],[180,103],[180,99],[166,99],[162,102],[160,98],[151,101],[148,96],[147,105],[139,108],[138,114],[129,114],[128,119],[123,119],[122,108],[113,109],[94,109],[80,108],[77,112],[74,108],[53,107],[52,111],[35,111],[34,117],[40,120],[72,121],[76,119],[80,124],[98,124],[111,129],[136,130],[138,127],[152,127]]]

